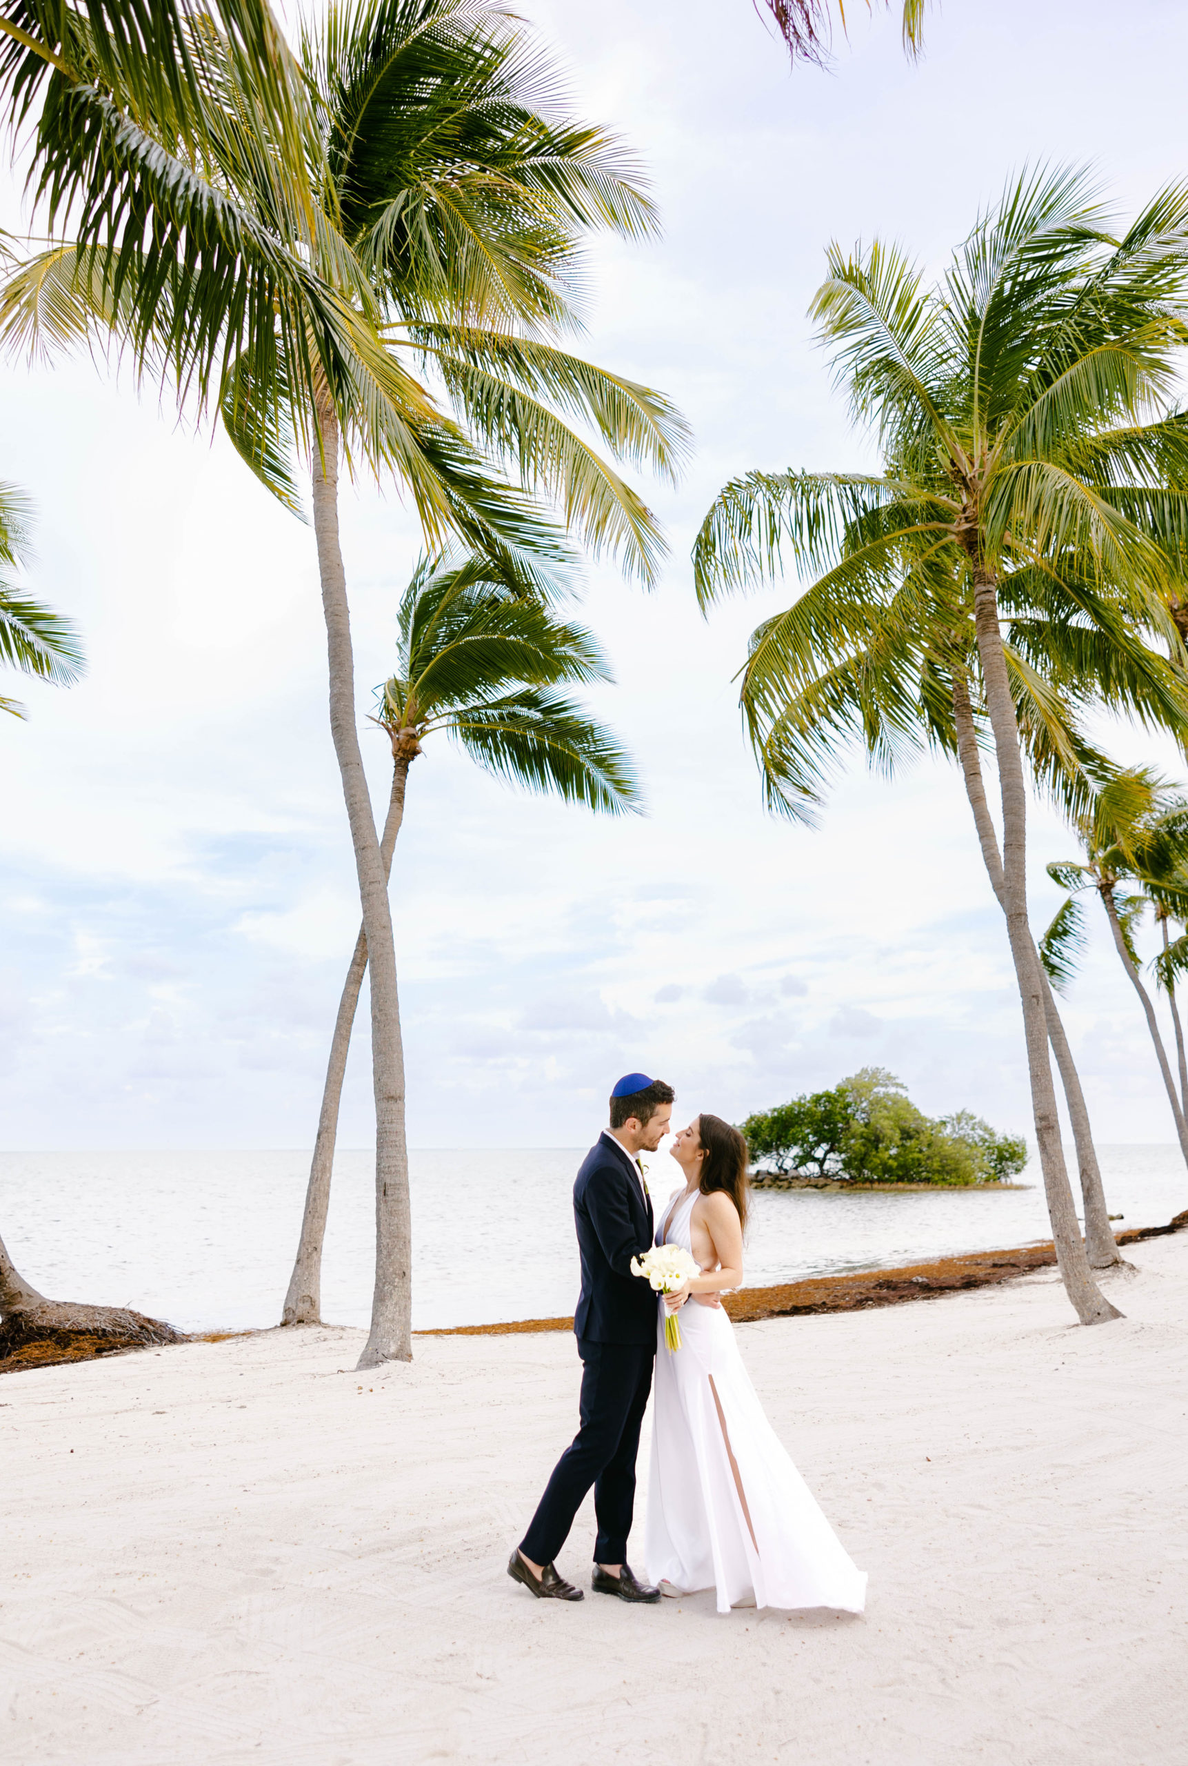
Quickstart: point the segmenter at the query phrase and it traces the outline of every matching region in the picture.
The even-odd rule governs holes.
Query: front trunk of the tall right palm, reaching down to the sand
[[[997,618],[997,592],[994,576],[974,563],[974,627],[978,655],[985,680],[987,712],[994,731],[999,789],[1003,795],[1003,911],[1010,938],[1019,1000],[1027,1038],[1027,1070],[1031,1079],[1031,1111],[1036,1127],[1043,1192],[1056,1241],[1056,1261],[1064,1291],[1082,1324],[1098,1324],[1119,1317],[1093,1279],[1086,1247],[1077,1227],[1073,1192],[1064,1167],[1061,1121],[1056,1109],[1052,1063],[1049,1061],[1049,1026],[1043,1007],[1040,957],[1027,922],[1027,788],[1024,784],[1022,756],[1019,752],[1019,724],[1003,653],[1003,632]]]

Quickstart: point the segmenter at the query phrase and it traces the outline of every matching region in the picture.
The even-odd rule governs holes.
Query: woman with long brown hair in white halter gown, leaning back
[[[671,1151],[685,1189],[669,1203],[657,1245],[683,1245],[703,1273],[660,1296],[648,1581],[676,1593],[715,1588],[718,1612],[752,1602],[861,1612],[865,1572],[764,1416],[734,1326],[722,1307],[685,1307],[690,1294],[741,1286],[747,1143],[718,1116],[697,1116]],[[665,1307],[683,1307],[676,1351],[664,1342]]]

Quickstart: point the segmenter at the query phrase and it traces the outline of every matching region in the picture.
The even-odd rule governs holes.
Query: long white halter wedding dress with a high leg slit
[[[696,1199],[697,1190],[669,1206],[657,1245],[692,1252]],[[847,1558],[764,1416],[729,1317],[688,1300],[678,1319],[681,1347],[671,1351],[660,1300],[648,1581],[667,1581],[681,1593],[715,1588],[718,1612],[752,1600],[756,1607],[861,1612],[867,1575]]]

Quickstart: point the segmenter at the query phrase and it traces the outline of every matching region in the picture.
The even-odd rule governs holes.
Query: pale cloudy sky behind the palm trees
[[[581,608],[616,675],[588,699],[632,751],[646,816],[526,798],[443,738],[413,766],[392,883],[410,1141],[584,1144],[634,1068],[676,1086],[678,1114],[740,1120],[863,1065],[929,1113],[1027,1132],[1013,975],[957,774],[886,781],[854,756],[816,830],[768,818],[733,675],[794,585],[703,620],[688,551],[733,475],[872,459],[807,320],[830,240],[895,238],[941,268],[1026,162],[1093,162],[1123,215],[1188,175],[1188,12],[946,0],[913,65],[891,14],[847,9],[821,72],[789,69],[748,0],[521,11],[664,217],[662,238],[591,249],[581,348],[664,389],[696,452],[678,487],[644,484],[669,535],[655,590],[604,562]],[[28,581],[88,652],[69,691],[0,683],[30,712],[0,729],[0,1141],[307,1146],[358,929],[312,533],[221,436],[90,360],[9,364],[0,387],[0,479],[37,510]],[[344,493],[342,542],[383,805],[367,713],[420,542],[399,493],[367,484]],[[1137,731],[1112,745],[1177,775]],[[1073,842],[1043,805],[1029,828],[1043,925],[1043,864]],[[1103,925],[1066,1021],[1098,1137],[1170,1141]],[[360,1010],[341,1144],[371,1141]]]

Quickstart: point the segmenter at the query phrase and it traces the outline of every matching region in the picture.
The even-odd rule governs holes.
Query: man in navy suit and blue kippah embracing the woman
[[[639,1153],[655,1153],[673,1120],[673,1086],[625,1074],[611,1093],[611,1127],[590,1148],[574,1183],[581,1298],[574,1316],[583,1360],[581,1429],[561,1453],[512,1552],[507,1574],[538,1600],[581,1600],[553,1559],[593,1483],[598,1538],[591,1588],[653,1604],[658,1588],[627,1563],[635,1501],[635,1453],[657,1353],[657,1296],[630,1273],[655,1233]]]

